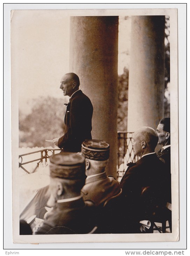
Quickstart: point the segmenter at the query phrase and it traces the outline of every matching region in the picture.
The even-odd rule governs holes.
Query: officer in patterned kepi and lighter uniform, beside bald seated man
[[[90,200],[96,206],[103,205],[121,191],[118,181],[105,173],[109,153],[110,145],[105,141],[85,140],[82,143],[87,178],[81,192],[84,200]]]

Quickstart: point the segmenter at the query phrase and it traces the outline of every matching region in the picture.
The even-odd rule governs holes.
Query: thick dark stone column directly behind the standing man
[[[110,144],[106,173],[117,177],[118,16],[70,18],[70,72],[92,102],[92,138]]]

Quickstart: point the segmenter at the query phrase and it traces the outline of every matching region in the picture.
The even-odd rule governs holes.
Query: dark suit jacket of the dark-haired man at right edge
[[[164,149],[163,151],[159,151],[157,154],[158,158],[166,165],[167,171],[167,201],[171,203],[171,147]]]

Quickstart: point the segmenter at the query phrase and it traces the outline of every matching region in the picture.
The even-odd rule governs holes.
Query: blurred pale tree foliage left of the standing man
[[[64,99],[38,97],[33,100],[31,113],[19,112],[19,147],[54,146],[45,140],[61,137],[64,133]]]

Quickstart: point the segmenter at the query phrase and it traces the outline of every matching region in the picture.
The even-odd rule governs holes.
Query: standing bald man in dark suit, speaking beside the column
[[[64,152],[79,152],[81,144],[86,139],[92,139],[92,103],[82,90],[80,81],[75,73],[67,73],[61,79],[60,88],[63,95],[70,96],[65,114],[65,133],[52,142]]]

